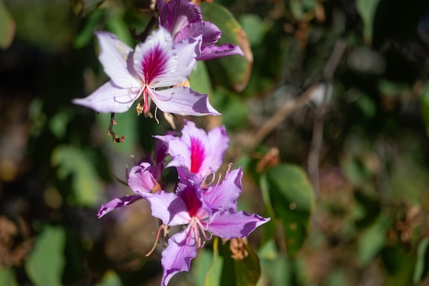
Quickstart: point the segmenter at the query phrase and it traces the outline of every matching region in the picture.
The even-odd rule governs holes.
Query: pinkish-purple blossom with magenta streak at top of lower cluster
[[[191,172],[201,179],[219,169],[230,143],[225,127],[215,127],[206,132],[191,121],[183,127],[181,138],[173,135],[154,137],[168,146],[171,161],[167,167],[176,167],[180,177]]]

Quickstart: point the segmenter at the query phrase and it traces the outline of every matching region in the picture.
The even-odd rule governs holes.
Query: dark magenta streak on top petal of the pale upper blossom
[[[143,57],[142,70],[145,71],[145,84],[150,85],[151,82],[162,75],[165,71],[165,66],[169,55],[167,55],[159,45],[149,51],[149,55]]]

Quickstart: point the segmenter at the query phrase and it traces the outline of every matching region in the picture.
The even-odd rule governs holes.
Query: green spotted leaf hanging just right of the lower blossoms
[[[314,191],[306,174],[291,164],[268,169],[267,186],[275,215],[282,220],[286,248],[294,256],[308,235],[310,213],[315,205]]]

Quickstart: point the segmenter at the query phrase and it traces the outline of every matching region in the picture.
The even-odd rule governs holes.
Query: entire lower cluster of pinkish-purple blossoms
[[[241,168],[229,171],[222,182],[204,183],[208,176],[215,176],[228,148],[230,139],[224,127],[206,133],[188,121],[182,137],[155,137],[158,142],[154,159],[145,159],[128,174],[127,183],[135,195],[115,198],[101,207],[98,216],[101,218],[143,198],[149,203],[152,216],[159,218],[164,226],[184,226],[169,238],[167,248],[162,251],[162,285],[167,285],[174,274],[189,270],[197,249],[212,235],[225,239],[247,237],[269,218],[237,211],[237,198],[242,190]],[[160,188],[167,155],[171,156],[167,168],[177,169],[179,181],[175,192]]]

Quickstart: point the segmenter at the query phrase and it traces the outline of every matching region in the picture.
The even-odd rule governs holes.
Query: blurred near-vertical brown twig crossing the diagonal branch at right
[[[344,40],[339,39],[336,41],[334,51],[326,63],[325,70],[323,72],[323,77],[325,81],[325,90],[323,92],[323,101],[315,110],[314,125],[312,128],[312,141],[310,145],[310,153],[308,154],[308,177],[312,182],[313,187],[315,187],[316,194],[319,192],[319,157],[320,150],[323,144],[323,124],[326,114],[326,105],[328,98],[328,88],[332,78],[334,77],[334,72],[338,66],[341,57],[345,51],[346,43]]]

